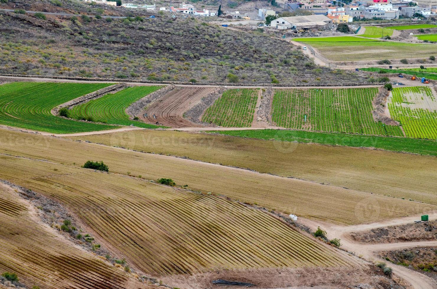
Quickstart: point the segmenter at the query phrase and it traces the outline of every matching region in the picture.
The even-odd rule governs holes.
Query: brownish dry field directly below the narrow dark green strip
[[[177,131],[130,131],[69,138],[186,156],[437,205],[437,194],[432,193],[437,186],[435,157]]]

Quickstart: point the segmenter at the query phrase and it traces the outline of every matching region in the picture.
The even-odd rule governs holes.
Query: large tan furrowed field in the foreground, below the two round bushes
[[[1,179],[61,200],[149,274],[348,265],[332,248],[239,203],[71,165],[0,161]]]

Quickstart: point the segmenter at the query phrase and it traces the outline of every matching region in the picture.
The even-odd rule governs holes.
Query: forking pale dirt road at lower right
[[[430,220],[437,219],[437,212],[430,212],[428,213],[428,215]],[[400,248],[411,248],[411,247],[418,247],[418,246],[423,246],[423,247],[437,246],[437,241],[363,244],[354,241],[350,236],[350,233],[368,231],[374,228],[409,224],[414,222],[415,220],[420,220],[420,216],[409,216],[399,219],[386,220],[386,221],[371,223],[371,224],[360,224],[354,226],[340,226],[340,225],[329,224],[326,222],[320,222],[317,220],[308,220],[305,218],[299,218],[298,222],[310,227],[313,231],[315,231],[317,227],[320,227],[322,230],[326,231],[328,239],[340,238],[342,244],[341,248],[346,249],[347,251],[354,252],[355,255],[360,256],[365,261],[375,263],[378,261],[385,261],[376,256],[375,253],[378,251],[389,251],[389,250],[396,250]],[[430,279],[426,275],[420,274],[419,272],[415,272],[413,270],[410,270],[400,265],[389,264],[389,266],[392,267],[394,274],[406,280],[406,282],[411,283],[411,285],[415,289],[437,288],[437,284],[435,284],[434,280]]]

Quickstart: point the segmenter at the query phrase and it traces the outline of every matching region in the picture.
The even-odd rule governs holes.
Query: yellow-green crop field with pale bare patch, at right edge
[[[437,139],[437,101],[429,87],[393,89],[388,110],[410,138]]]

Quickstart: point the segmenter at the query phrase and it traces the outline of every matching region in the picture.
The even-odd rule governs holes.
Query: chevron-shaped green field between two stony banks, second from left
[[[133,86],[117,93],[108,93],[100,98],[80,104],[70,110],[70,117],[77,120],[92,119],[95,122],[108,124],[133,124],[136,127],[156,128],[153,124],[146,124],[130,120],[125,110],[128,106],[142,97],[153,93],[162,86]]]

